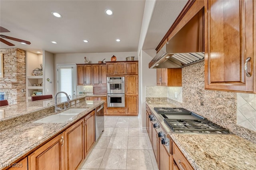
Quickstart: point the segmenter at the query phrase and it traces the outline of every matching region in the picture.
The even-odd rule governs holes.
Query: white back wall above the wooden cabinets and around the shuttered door
[[[98,61],[111,61],[111,57],[115,55],[116,61],[125,61],[126,57],[134,56],[134,60],[138,60],[137,52],[113,52],[113,53],[66,53],[54,54],[54,82],[57,78],[56,64],[84,64],[84,57],[91,63],[98,63]],[[54,85],[54,92],[57,91],[57,84]],[[84,91],[84,90],[83,90]],[[77,93],[79,90],[77,89]]]

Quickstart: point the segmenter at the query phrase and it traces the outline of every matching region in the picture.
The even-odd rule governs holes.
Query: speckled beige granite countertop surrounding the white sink
[[[0,164],[8,164],[18,160],[66,127],[84,117],[104,101],[87,101],[72,105],[72,108],[87,108],[66,123],[23,123],[0,132]],[[41,117],[42,118],[42,117]],[[3,167],[0,166],[0,169]]]

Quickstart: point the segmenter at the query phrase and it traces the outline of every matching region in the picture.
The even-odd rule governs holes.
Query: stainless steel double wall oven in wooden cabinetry
[[[125,107],[124,76],[107,77],[108,107]]]

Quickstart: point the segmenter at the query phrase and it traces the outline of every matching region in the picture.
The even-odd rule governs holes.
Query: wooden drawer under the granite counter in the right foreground
[[[185,156],[182,154],[180,149],[178,149],[177,145],[173,143],[173,159],[176,162],[179,169],[184,170],[193,170],[192,166],[189,164],[188,160],[185,158]]]

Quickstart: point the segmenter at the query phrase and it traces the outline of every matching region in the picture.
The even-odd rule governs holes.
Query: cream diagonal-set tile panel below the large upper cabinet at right
[[[256,131],[256,94],[237,93],[237,124]]]

